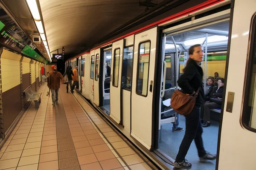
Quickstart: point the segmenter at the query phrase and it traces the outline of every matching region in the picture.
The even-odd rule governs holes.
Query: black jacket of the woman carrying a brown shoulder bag
[[[186,94],[193,94],[199,88],[198,96],[196,98],[196,105],[204,104],[204,91],[202,88],[203,81],[203,70],[202,68],[195,62],[195,60],[191,60],[186,65],[186,71],[180,78],[178,79],[178,85],[182,89],[182,91]]]

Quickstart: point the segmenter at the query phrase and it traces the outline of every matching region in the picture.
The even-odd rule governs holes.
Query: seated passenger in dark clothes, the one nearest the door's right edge
[[[210,126],[210,109],[221,108],[223,96],[224,79],[218,80],[218,87],[215,87],[209,95],[209,101],[205,102],[204,108],[201,110],[203,113],[204,125],[203,127]]]

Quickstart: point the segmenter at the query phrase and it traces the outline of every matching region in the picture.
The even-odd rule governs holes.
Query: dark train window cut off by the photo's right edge
[[[245,83],[245,97],[242,122],[250,130],[256,130],[256,15],[252,23],[252,36],[248,59],[247,81]],[[249,39],[250,40],[250,39]]]

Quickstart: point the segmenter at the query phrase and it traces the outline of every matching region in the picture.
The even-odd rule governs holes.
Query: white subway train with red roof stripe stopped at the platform
[[[188,49],[204,50],[204,85],[215,72],[225,79],[221,108],[204,128],[206,150],[216,161],[198,163],[191,145],[186,159],[197,169],[255,169],[256,0],[207,0],[153,23],[141,23],[65,63],[78,66],[76,91],[155,164],[175,160],[184,131],[172,132],[184,116],[170,106]],[[144,24],[144,25],[143,25]],[[146,25],[147,24],[147,25]],[[164,109],[161,109],[162,105]]]

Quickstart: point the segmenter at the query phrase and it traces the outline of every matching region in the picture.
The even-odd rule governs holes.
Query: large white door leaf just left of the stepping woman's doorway
[[[157,27],[135,35],[131,90],[131,136],[151,149]]]

